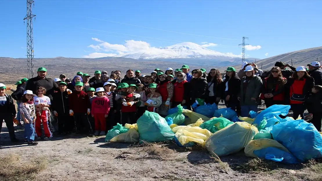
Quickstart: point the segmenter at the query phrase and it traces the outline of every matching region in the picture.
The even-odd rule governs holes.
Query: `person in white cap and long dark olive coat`
[[[249,117],[250,111],[257,112],[256,99],[260,95],[262,80],[255,75],[254,68],[251,65],[245,67],[245,77],[241,79],[241,91],[238,100],[241,105],[241,116]]]

